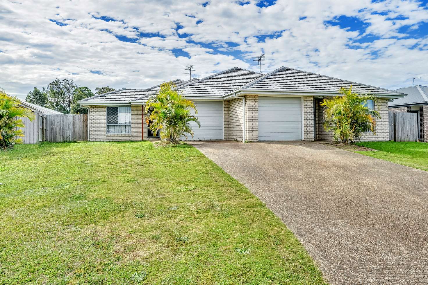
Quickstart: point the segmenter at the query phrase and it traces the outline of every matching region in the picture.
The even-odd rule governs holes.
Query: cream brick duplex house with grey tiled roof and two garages
[[[353,86],[356,92],[380,97],[381,119],[376,135],[367,132],[363,141],[388,141],[388,100],[405,94],[316,73],[281,67],[262,75],[231,68],[184,82],[173,81],[184,97],[197,106],[201,128],[193,125],[194,140],[278,141],[331,140],[323,128],[324,97]],[[157,138],[146,125],[144,105],[159,86],[119,89],[79,101],[89,108],[89,141],[146,140]],[[371,104],[373,107],[373,104]]]

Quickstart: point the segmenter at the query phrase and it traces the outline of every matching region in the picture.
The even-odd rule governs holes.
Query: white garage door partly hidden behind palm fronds
[[[187,135],[187,140],[222,140],[223,139],[223,102],[219,101],[194,101],[198,114],[201,128],[194,122],[190,122],[192,126],[193,138]],[[194,112],[192,111],[194,114]],[[181,140],[186,140],[181,136]]]

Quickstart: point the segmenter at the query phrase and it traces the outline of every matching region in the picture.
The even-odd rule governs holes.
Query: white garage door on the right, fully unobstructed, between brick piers
[[[301,139],[301,98],[259,96],[259,141]]]

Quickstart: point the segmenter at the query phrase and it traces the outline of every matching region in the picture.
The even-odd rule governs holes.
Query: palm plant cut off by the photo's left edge
[[[33,111],[20,107],[20,101],[16,97],[10,97],[0,91],[0,148],[7,150],[15,144],[22,144],[24,123],[18,117],[34,119]]]

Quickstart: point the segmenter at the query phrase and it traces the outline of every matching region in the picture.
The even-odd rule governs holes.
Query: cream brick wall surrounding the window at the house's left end
[[[131,134],[107,135],[107,106],[89,107],[89,141],[141,141],[141,106],[131,106]]]

